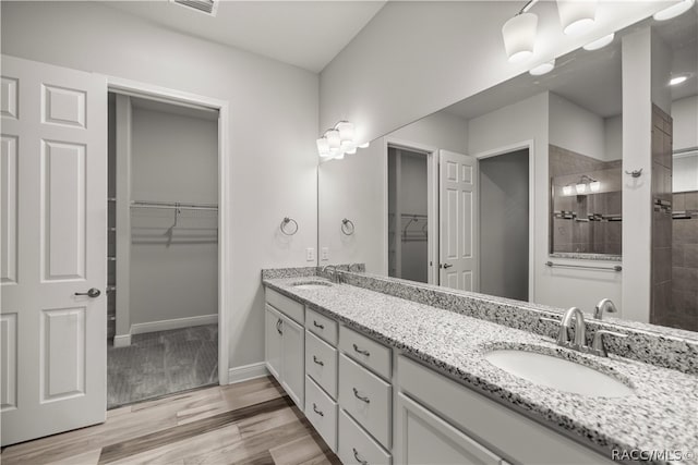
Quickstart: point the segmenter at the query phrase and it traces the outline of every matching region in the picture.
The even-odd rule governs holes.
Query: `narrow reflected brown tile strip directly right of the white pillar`
[[[652,301],[650,322],[670,323],[672,311],[672,117],[652,106]]]

